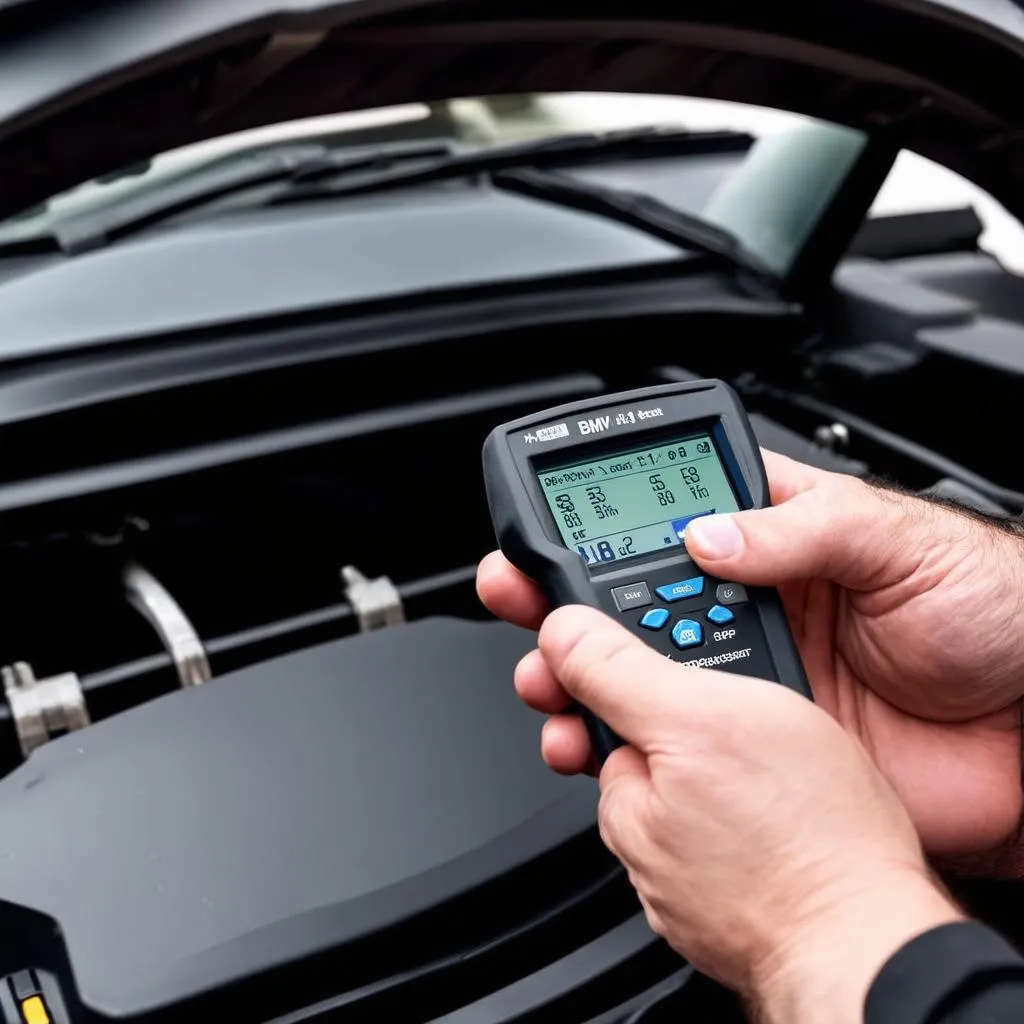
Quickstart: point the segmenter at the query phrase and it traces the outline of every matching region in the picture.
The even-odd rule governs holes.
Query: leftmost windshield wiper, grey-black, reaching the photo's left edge
[[[152,224],[215,200],[276,181],[309,181],[348,172],[381,173],[409,159],[434,162],[451,150],[442,144],[389,146],[358,155],[334,152],[319,143],[249,154],[238,160],[204,168],[180,178],[115,201],[90,213],[58,220],[45,234],[0,239],[0,256],[16,253],[61,252],[77,256]]]

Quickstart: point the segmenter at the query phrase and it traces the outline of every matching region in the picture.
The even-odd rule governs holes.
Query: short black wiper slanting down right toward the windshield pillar
[[[557,171],[534,168],[502,171],[492,175],[490,180],[506,191],[607,217],[687,252],[713,256],[766,280],[771,278],[761,262],[724,227],[669,206],[646,193],[611,188]]]

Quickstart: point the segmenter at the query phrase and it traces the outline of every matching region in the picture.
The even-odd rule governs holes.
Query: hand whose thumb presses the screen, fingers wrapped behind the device
[[[1020,709],[1011,702],[1024,683],[1024,629],[1013,625],[1024,541],[781,456],[765,453],[765,462],[776,506],[695,520],[690,553],[717,575],[782,585],[815,700],[862,741],[930,853],[1008,841],[1022,807]],[[721,540],[730,519],[739,549],[715,558],[713,535]],[[480,563],[477,589],[497,615],[528,629],[547,613],[536,586],[498,552]],[[958,616],[972,632],[953,637]],[[537,689],[528,674],[517,685],[555,716],[544,731],[548,764],[586,770],[583,723],[561,714],[567,694]]]

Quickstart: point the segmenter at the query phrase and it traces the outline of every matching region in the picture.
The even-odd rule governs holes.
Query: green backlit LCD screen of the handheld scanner
[[[558,532],[588,563],[683,543],[686,526],[739,505],[708,434],[537,474]]]

